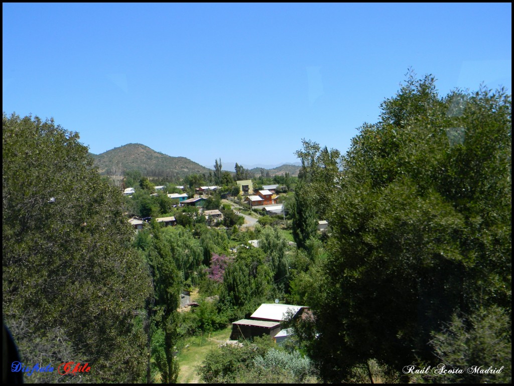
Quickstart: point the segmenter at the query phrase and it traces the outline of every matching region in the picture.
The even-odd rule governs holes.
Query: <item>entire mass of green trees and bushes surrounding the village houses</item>
[[[344,156],[303,140],[298,178],[221,159],[182,176],[190,196],[221,186],[204,202],[217,223],[156,193],[164,177],[114,162],[109,184],[76,133],[4,114],[3,304],[23,359],[89,361],[95,382],[438,382],[402,372],[438,363],[446,382],[510,382],[510,95],[441,97],[411,74],[381,109]],[[221,197],[249,178],[285,186],[287,220],[252,211],[241,227]],[[134,234],[123,214],[150,224]],[[276,298],[310,307],[283,346],[210,340]]]

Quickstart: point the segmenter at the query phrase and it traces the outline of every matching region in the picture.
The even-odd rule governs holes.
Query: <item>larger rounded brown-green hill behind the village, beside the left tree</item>
[[[94,158],[100,174],[106,176],[139,170],[143,176],[173,179],[193,173],[209,173],[210,170],[188,158],[171,157],[139,143],[115,147],[99,155],[89,154]]]

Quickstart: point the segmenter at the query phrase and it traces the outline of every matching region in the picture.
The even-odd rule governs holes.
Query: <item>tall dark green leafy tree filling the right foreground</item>
[[[410,76],[381,109],[343,159],[327,211],[331,253],[309,304],[316,322],[303,325],[325,381],[350,380],[371,359],[401,373],[440,363],[437,353],[466,358],[481,350],[469,345],[497,344],[490,337],[500,331],[486,318],[481,331],[466,325],[473,315],[495,307],[511,320],[510,95],[441,98],[431,76]],[[448,323],[476,335],[460,340],[461,354],[450,356],[451,336],[437,334]],[[510,328],[502,334],[510,346]],[[493,368],[510,362],[488,358]],[[460,364],[482,364],[470,361]]]

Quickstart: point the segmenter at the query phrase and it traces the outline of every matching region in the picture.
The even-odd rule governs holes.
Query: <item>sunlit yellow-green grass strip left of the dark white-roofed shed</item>
[[[177,383],[203,383],[200,376],[196,374],[201,362],[204,361],[207,353],[217,347],[219,344],[225,342],[232,332],[232,327],[227,327],[225,330],[215,331],[203,336],[194,336],[186,341],[189,346],[177,355],[177,361],[180,365],[180,372],[178,374]]]

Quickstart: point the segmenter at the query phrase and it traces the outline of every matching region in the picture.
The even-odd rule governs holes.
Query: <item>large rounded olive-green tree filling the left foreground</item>
[[[3,114],[5,322],[24,363],[89,362],[82,381],[137,382],[148,269],[131,248],[119,189],[78,140],[53,120]]]

